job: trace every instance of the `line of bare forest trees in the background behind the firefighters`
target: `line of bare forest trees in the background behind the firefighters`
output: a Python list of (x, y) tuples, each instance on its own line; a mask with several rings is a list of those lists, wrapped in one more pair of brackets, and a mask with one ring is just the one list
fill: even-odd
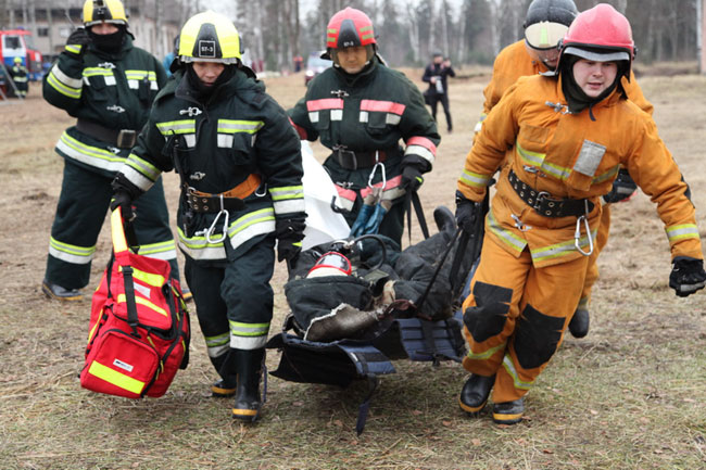
[[(326, 43), (326, 25), (337, 11), (366, 12), (383, 58), (392, 66), (420, 66), (433, 51), (456, 64), (491, 64), (505, 46), (522, 38), (531, 0), (124, 0), (152, 18), (184, 22), (207, 8), (218, 8), (238, 27), (250, 56), (267, 69), (288, 69)], [(583, 11), (598, 0), (575, 0)], [(604, 0), (632, 25), (639, 61), (693, 61), (698, 54), (698, 2), (702, 0)], [(0, 26), (28, 27), (36, 10), (56, 8), (47, 0), (0, 0)], [(75, 5), (73, 5), (75, 3)], [(68, 0), (63, 8), (80, 8)], [(304, 8), (306, 7), (306, 8)], [(29, 27), (28, 27), (29, 28)], [(169, 38), (171, 39), (171, 38)]]

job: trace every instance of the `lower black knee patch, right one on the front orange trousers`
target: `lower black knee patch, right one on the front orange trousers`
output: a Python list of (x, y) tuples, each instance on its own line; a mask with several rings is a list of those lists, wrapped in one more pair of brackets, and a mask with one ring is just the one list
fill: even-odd
[(515, 328), (515, 353), (525, 369), (550, 360), (562, 339), (564, 318), (550, 317), (527, 304)]

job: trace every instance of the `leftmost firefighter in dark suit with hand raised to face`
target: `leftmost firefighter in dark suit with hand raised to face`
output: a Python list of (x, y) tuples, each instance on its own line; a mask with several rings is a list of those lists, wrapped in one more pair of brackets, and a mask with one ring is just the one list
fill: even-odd
[[(77, 118), (56, 143), (64, 178), (51, 228), (42, 291), (75, 301), (89, 282), (96, 242), (111, 202), (111, 181), (147, 122), (166, 81), (160, 62), (133, 46), (118, 0), (84, 3), (85, 28), (76, 29), (42, 82), (45, 99)], [(178, 278), (176, 246), (162, 181), (137, 205), (140, 254), (166, 259)]]

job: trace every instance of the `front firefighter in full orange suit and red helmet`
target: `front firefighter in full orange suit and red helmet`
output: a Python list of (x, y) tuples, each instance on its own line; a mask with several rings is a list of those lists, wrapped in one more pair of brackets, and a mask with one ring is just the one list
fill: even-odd
[[(609, 4), (580, 13), (564, 37), (557, 76), (518, 80), (483, 122), (458, 179), (456, 217), (471, 230), (499, 178), (480, 264), (463, 303), (471, 372), (459, 405), (519, 422), (524, 396), (558, 348), (579, 302), (601, 220), (600, 198), (621, 165), (657, 204), (670, 244), (669, 285), (686, 296), (706, 272), (695, 209), (652, 117), (627, 100), (634, 55), (628, 20)], [(497, 269), (502, 266), (503, 269)]]

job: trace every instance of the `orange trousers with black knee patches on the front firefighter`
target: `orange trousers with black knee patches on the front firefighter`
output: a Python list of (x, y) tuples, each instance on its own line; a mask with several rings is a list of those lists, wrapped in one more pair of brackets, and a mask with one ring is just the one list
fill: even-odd
[[(499, 268), (502, 267), (502, 268)], [(480, 264), (464, 301), (466, 370), (495, 374), (492, 401), (524, 396), (562, 344), (581, 297), (589, 257), (537, 268), (486, 237)]]

